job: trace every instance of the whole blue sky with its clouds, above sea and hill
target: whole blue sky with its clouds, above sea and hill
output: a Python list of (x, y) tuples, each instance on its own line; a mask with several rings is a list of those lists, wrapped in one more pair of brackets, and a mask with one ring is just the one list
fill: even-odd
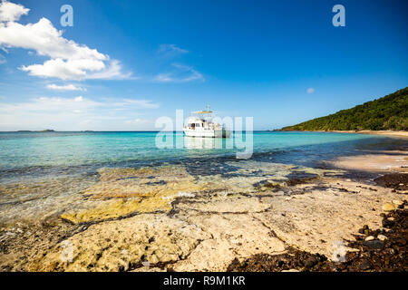
[(276, 129), (408, 85), (406, 1), (1, 5), (0, 131), (159, 130), (160, 116), (207, 103)]

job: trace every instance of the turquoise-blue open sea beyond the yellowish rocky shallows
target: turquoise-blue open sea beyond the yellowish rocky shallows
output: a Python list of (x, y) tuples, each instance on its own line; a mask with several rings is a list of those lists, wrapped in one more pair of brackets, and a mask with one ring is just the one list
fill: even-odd
[[(223, 140), (223, 148), (216, 149), (214, 139), (187, 137), (181, 137), (182, 149), (158, 149), (156, 136), (157, 132), (1, 132), (0, 182), (86, 174), (101, 167), (189, 163), (197, 159), (222, 162), (244, 151), (237, 149), (235, 142), (233, 149), (226, 149)], [(372, 135), (256, 131), (251, 159), (316, 166), (320, 160), (398, 144), (403, 140)]]

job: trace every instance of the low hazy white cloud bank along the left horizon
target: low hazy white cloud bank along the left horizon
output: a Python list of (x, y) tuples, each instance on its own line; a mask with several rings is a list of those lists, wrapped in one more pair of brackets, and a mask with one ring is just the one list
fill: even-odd
[[(149, 100), (42, 97), (0, 103), (0, 131), (154, 130), (154, 122), (135, 119), (138, 111), (158, 108)], [(117, 110), (120, 109), (120, 110)]]

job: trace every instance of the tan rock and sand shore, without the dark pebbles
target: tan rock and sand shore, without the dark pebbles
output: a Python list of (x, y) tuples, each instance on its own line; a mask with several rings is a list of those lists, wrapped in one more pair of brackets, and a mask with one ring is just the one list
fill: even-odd
[[(335, 263), (339, 251), (355, 252), (347, 243), (367, 237), (359, 233), (363, 226), (384, 229), (382, 213), (406, 211), (408, 183), (400, 181), (406, 177), (406, 156), (396, 151), (375, 159), (342, 158), (333, 161), (338, 169), (302, 168), (296, 179), (248, 178), (228, 189), (211, 176), (197, 181), (182, 167), (103, 169), (100, 181), (83, 192), (100, 201), (97, 207), (3, 230), (0, 266), (16, 271), (227, 271), (254, 256), (285, 256), (294, 250)], [(262, 162), (252, 166), (270, 169)], [(353, 178), (347, 169), (376, 172), (379, 178), (400, 175), (394, 186), (384, 185)], [(256, 181), (259, 186), (252, 190)]]

